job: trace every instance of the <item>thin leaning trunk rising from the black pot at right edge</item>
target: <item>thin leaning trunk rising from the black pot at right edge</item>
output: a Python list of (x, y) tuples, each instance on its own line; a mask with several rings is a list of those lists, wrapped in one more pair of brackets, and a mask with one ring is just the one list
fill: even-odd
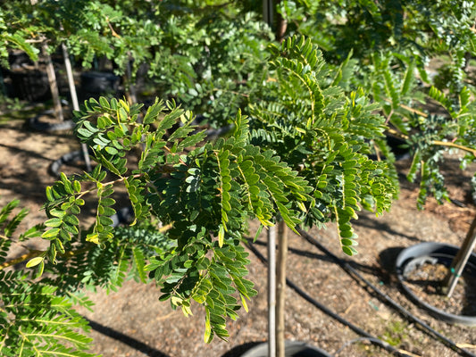
[(458, 283), (458, 278), (461, 277), (463, 273), (464, 266), (470, 256), (474, 247), (476, 246), (476, 216), (472, 220), (472, 224), (466, 238), (464, 238), (463, 245), (461, 245), (460, 250), (456, 254), (453, 262), (451, 262), (450, 270), (447, 273), (447, 277), (443, 281), (442, 290), (443, 293), (450, 297), (455, 291), (455, 286)]

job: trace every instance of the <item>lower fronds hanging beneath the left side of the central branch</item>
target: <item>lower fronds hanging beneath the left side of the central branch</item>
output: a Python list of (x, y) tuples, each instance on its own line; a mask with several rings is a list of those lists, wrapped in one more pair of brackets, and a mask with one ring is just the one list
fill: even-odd
[(117, 291), (126, 278), (148, 282), (145, 257), (163, 253), (172, 249), (172, 245), (174, 242), (167, 240), (150, 222), (142, 222), (137, 227), (116, 227), (113, 239), (104, 247), (84, 237), (76, 241), (71, 253), (58, 256), (57, 264), (46, 267), (54, 278), (44, 280), (75, 300), (77, 292), (84, 287)]

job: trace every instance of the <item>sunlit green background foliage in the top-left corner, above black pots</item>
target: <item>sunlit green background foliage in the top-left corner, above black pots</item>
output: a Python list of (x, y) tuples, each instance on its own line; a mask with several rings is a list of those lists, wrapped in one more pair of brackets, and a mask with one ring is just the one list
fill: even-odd
[[(162, 31), (154, 22), (151, 13), (154, 9), (148, 2), (129, 6), (124, 2), (112, 3), (99, 0), (11, 2), (0, 9), (0, 29), (6, 30), (0, 40), (6, 41), (9, 47), (24, 50), (32, 60), (38, 59), (43, 43), (47, 43), (50, 52), (64, 43), (72, 55), (78, 56), (84, 68), (90, 68), (97, 57), (104, 56), (114, 62), (117, 74), (124, 74), (129, 60), (135, 59), (132, 62), (132, 75), (135, 75), (138, 66), (151, 58)], [(0, 58), (6, 56), (2, 47)]]

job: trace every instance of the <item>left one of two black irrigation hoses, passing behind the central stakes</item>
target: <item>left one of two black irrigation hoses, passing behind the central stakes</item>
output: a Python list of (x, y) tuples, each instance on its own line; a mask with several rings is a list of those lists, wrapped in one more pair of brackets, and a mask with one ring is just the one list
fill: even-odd
[[(263, 254), (260, 253), (256, 248), (255, 246), (252, 244), (251, 241), (248, 240), (248, 247), (250, 248), (250, 250), (255, 253), (255, 255), (258, 257), (258, 259), (263, 262), (264, 264), (267, 264), (267, 260), (266, 258), (264, 258)], [(355, 326), (352, 322), (350, 321), (347, 321), (346, 319), (344, 319), (343, 317), (339, 316), (337, 313), (335, 313), (334, 311), (331, 311), (327, 306), (324, 306), (322, 303), (319, 303), (317, 300), (313, 299), (312, 296), (308, 295), (307, 293), (305, 293), (304, 290), (302, 290), (301, 288), (299, 288), (298, 286), (296, 286), (296, 284), (294, 284), (290, 279), (286, 278), (286, 284), (291, 287), (294, 291), (296, 291), (296, 293), (298, 295), (300, 295), (302, 298), (304, 298), (308, 303), (312, 303), (314, 305), (314, 307), (318, 308), (319, 310), (321, 310), (322, 312), (324, 312), (325, 314), (329, 315), (332, 319), (334, 320), (338, 320), (338, 322), (340, 322), (341, 324), (347, 326), (347, 328), (350, 328), (352, 329), (356, 334), (360, 335), (360, 336), (364, 336), (368, 341), (372, 342), (372, 344), (374, 345), (378, 345), (380, 347), (382, 347), (383, 349), (387, 350), (389, 353), (394, 353), (395, 355), (397, 356), (405, 356), (405, 357), (408, 357), (411, 355), (410, 354), (407, 354), (403, 351), (400, 351), (398, 350), (397, 348), (395, 348), (394, 346), (392, 345), (389, 345), (388, 343), (386, 343), (385, 341), (382, 341), (380, 340), (379, 338), (375, 337), (375, 336), (372, 336), (370, 335), (369, 333), (365, 332), (362, 328), (358, 328), (357, 326)]]

